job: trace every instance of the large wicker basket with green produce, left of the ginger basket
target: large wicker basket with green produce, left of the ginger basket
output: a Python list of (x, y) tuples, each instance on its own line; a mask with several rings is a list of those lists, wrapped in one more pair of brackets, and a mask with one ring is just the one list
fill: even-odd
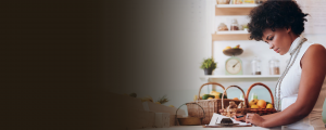
[[(220, 114), (220, 109), (222, 108), (222, 99), (212, 99), (212, 100), (200, 100), (200, 91), (201, 89), (206, 84), (216, 84), (220, 86), (223, 90), (224, 87), (217, 82), (208, 82), (200, 87), (199, 93), (198, 93), (198, 100), (196, 102), (190, 103), (198, 103), (200, 106), (203, 107), (205, 112), (205, 117), (202, 120), (202, 125), (209, 125), (211, 121), (211, 118), (214, 113)], [(224, 91), (224, 94), (226, 94), (226, 91)], [(224, 106), (228, 106), (228, 103), (234, 100), (224, 99)], [(236, 104), (239, 104), (242, 101), (235, 101)], [(201, 108), (198, 105), (195, 104), (187, 104), (188, 115), (191, 117), (203, 117), (203, 113)]]

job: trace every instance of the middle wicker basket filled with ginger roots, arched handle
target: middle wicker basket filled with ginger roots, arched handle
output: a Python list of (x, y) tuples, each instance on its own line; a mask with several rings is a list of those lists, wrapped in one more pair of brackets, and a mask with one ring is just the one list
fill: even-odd
[[(228, 88), (231, 88), (231, 87), (238, 88), (239, 90), (241, 90), (242, 94), (244, 95), (244, 91), (240, 87), (238, 87), (238, 86), (229, 86), (224, 91), (226, 92), (226, 90)], [(247, 108), (247, 106), (248, 106), (247, 102), (244, 102), (243, 107), (241, 107), (241, 108), (238, 108), (238, 106), (236, 108), (226, 108), (227, 106), (224, 107), (224, 104), (225, 104), (224, 102), (225, 101), (224, 101), (224, 93), (223, 93), (223, 95), (222, 95), (222, 108), (220, 110), (221, 115), (223, 115), (223, 116), (233, 117), (236, 114), (246, 115), (248, 112), (250, 112), (250, 108)], [(242, 102), (242, 101), (240, 101), (240, 102)], [(236, 105), (239, 105), (239, 103), (236, 103)]]

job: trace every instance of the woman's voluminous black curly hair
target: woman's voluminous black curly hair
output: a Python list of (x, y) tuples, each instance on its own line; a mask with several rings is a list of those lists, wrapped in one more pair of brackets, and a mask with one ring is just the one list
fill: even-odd
[(263, 31), (271, 28), (289, 28), (294, 35), (301, 35), (304, 30), (304, 18), (306, 15), (302, 13), (299, 5), (293, 1), (265, 1), (261, 5), (251, 10), (249, 17), (250, 23), (248, 29), (250, 40), (262, 40)]

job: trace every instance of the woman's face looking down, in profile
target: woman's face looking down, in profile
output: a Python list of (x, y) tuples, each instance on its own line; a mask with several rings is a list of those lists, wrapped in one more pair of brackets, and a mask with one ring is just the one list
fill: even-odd
[(284, 55), (289, 51), (294, 40), (293, 37), (291, 37), (290, 30), (290, 28), (276, 28), (275, 31), (273, 31), (271, 28), (267, 28), (263, 32), (263, 41), (269, 44), (269, 49)]

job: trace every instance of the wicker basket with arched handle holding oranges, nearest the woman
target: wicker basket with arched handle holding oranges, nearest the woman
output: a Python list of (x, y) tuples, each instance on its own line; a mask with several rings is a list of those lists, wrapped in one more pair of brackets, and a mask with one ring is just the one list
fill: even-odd
[[(253, 83), (253, 84), (251, 84), (251, 86), (249, 87), (249, 89), (247, 90), (246, 98), (244, 98), (246, 104), (249, 104), (248, 98), (249, 98), (250, 90), (251, 90), (253, 87), (255, 87), (255, 86), (263, 86), (263, 87), (265, 87), (265, 88), (268, 90), (268, 92), (269, 92), (269, 94), (271, 94), (271, 98), (272, 98), (272, 105), (273, 105), (273, 108), (250, 108), (249, 113), (255, 113), (255, 114), (259, 114), (259, 115), (261, 115), (261, 116), (262, 116), (262, 115), (268, 115), (268, 114), (276, 113), (276, 109), (274, 108), (275, 105), (274, 105), (274, 96), (273, 96), (273, 93), (272, 93), (271, 89), (269, 89), (266, 84), (261, 83), (261, 82)], [(249, 105), (247, 105), (247, 106), (249, 106)]]

